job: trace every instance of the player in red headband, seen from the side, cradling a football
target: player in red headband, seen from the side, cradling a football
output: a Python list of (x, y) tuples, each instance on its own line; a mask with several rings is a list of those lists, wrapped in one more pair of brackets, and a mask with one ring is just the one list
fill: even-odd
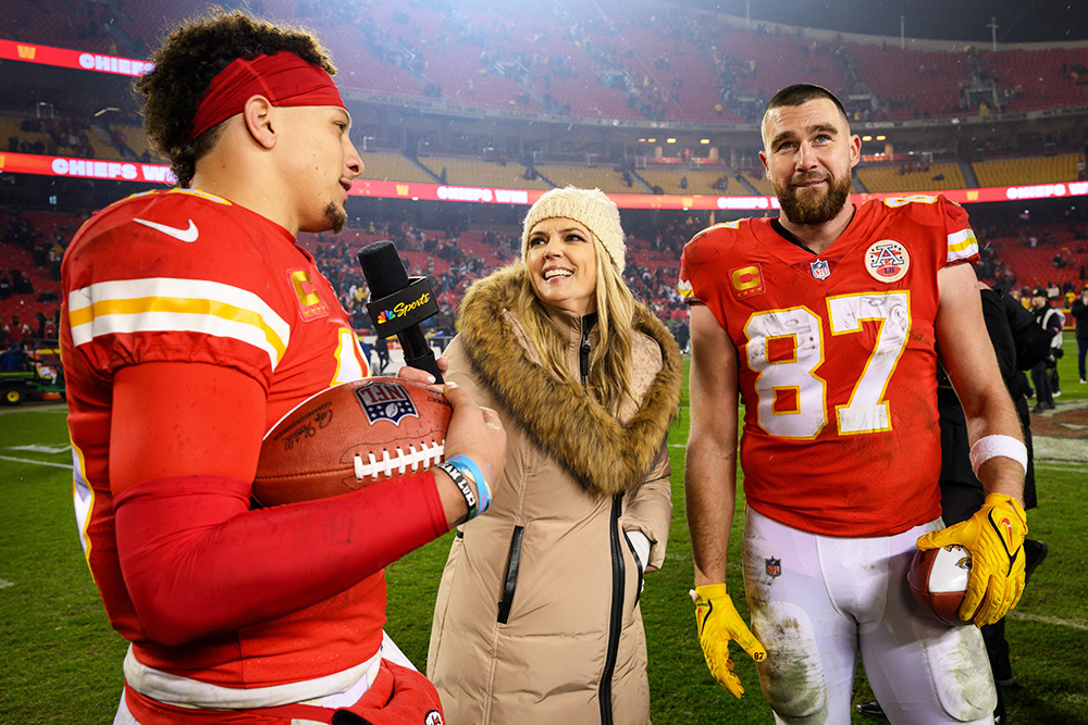
[(505, 433), (447, 386), (447, 462), (462, 454), (469, 475), (250, 504), (263, 434), (368, 374), (296, 245), (344, 226), (363, 166), (309, 34), (218, 11), (153, 60), (137, 88), (178, 187), (102, 210), (63, 262), (76, 514), (131, 642), (114, 722), (441, 722), (434, 688), (383, 634), (383, 567), (483, 507)]

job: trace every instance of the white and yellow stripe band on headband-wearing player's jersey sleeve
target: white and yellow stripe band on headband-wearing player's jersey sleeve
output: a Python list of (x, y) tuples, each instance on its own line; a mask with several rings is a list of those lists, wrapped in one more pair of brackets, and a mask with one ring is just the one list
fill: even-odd
[(151, 277), (100, 282), (69, 293), (72, 342), (115, 334), (188, 332), (263, 350), (275, 370), (290, 326), (254, 292), (206, 279)]

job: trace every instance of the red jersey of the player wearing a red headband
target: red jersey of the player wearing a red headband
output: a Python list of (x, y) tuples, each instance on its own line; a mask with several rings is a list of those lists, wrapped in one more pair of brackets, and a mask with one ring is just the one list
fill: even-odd
[(172, 648), (143, 630), (114, 536), (109, 452), (119, 368), (233, 367), (267, 391), (265, 430), (316, 392), (368, 374), (348, 316), (313, 259), (263, 216), (172, 189), (129, 197), (84, 224), (64, 257), (63, 280), (76, 514), (110, 622), (133, 642), (136, 660), (202, 683), (259, 687), (372, 658), (385, 623), (382, 572), (299, 612)]

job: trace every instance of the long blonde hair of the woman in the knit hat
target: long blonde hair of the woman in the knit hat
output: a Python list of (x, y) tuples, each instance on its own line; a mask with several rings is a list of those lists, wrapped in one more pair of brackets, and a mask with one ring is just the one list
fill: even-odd
[[(623, 283), (619, 271), (611, 264), (608, 252), (597, 236), (593, 235), (593, 249), (597, 255), (597, 279), (594, 292), (597, 303), (597, 354), (590, 364), (586, 387), (593, 397), (613, 415), (619, 413), (625, 398), (634, 399), (631, 389), (631, 338), (633, 335), (635, 301)], [(515, 300), (518, 318), (526, 334), (536, 348), (545, 368), (559, 379), (581, 385), (579, 375), (570, 370), (568, 339), (556, 328), (547, 305), (536, 297), (524, 262), (526, 274)]]

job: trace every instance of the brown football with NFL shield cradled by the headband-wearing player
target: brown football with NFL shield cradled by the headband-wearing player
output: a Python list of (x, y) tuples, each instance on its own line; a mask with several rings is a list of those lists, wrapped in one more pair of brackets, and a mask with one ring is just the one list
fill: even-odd
[(371, 377), (322, 390), (264, 436), (252, 497), (309, 501), (440, 463), (453, 412), (435, 387)]

